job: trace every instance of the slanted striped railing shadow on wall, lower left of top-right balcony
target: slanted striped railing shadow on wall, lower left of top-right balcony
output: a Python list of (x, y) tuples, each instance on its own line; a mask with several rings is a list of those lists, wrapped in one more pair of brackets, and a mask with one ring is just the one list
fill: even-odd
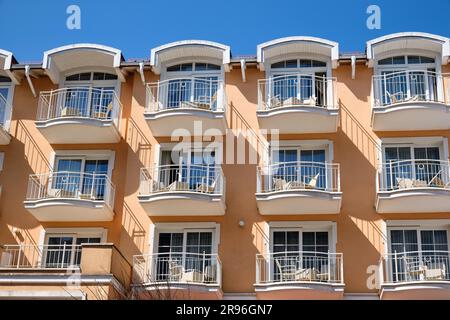
[(358, 148), (369, 163), (376, 168), (378, 165), (378, 152), (381, 151), (381, 146), (341, 101), (339, 101), (339, 106), (342, 132)]

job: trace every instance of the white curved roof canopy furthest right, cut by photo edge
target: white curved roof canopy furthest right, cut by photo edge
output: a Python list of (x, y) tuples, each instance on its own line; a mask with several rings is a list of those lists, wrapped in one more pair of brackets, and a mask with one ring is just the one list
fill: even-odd
[(450, 57), (450, 42), (449, 38), (430, 33), (400, 32), (367, 41), (366, 50), (370, 67), (381, 55), (407, 50), (435, 52), (442, 59), (442, 64), (447, 64)]

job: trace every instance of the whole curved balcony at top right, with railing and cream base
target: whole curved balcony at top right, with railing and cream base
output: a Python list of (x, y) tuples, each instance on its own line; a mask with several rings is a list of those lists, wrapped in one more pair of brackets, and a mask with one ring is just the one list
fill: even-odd
[(400, 71), (373, 77), (374, 131), (450, 129), (450, 74)]

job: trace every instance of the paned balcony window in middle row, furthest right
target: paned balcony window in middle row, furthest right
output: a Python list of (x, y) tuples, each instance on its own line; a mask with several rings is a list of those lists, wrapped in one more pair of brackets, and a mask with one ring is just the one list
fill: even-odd
[(388, 190), (438, 187), (446, 182), (439, 147), (385, 146), (384, 158)]

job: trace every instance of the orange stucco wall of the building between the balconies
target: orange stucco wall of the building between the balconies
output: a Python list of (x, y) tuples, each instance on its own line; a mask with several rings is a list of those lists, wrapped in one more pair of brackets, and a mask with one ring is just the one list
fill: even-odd
[[(444, 67), (450, 72), (450, 67)], [(145, 72), (146, 81), (158, 76)], [(232, 129), (252, 128), (257, 131), (257, 80), (264, 72), (248, 67), (247, 81), (242, 82), (241, 70), (226, 73), (228, 96), (227, 118)], [(149, 229), (157, 222), (217, 222), (220, 224), (219, 255), (223, 266), (223, 292), (254, 292), (255, 255), (263, 250), (264, 223), (267, 221), (334, 221), (337, 223), (337, 252), (344, 256), (346, 293), (375, 293), (366, 286), (367, 267), (376, 265), (383, 252), (381, 232), (383, 219), (440, 219), (450, 213), (422, 213), (383, 215), (376, 213), (375, 170), (377, 165), (377, 139), (381, 137), (445, 136), (449, 131), (378, 132), (371, 121), (372, 69), (358, 64), (356, 79), (351, 78), (351, 67), (341, 65), (333, 70), (337, 79), (340, 105), (340, 125), (336, 133), (285, 135), (281, 139), (328, 139), (333, 141), (334, 162), (341, 166), (343, 201), (337, 215), (262, 216), (256, 199), (256, 165), (224, 164), (227, 180), (227, 210), (221, 217), (148, 217), (137, 195), (139, 170), (153, 164), (154, 146), (168, 138), (155, 138), (144, 120), (145, 87), (137, 73), (129, 73), (122, 84), (121, 102), (123, 139), (117, 144), (104, 145), (50, 145), (36, 129), (34, 119), (37, 99), (31, 94), (26, 81), (15, 88), (11, 143), (0, 146), (5, 153), (0, 174), (2, 195), (0, 201), (0, 243), (37, 243), (42, 228), (51, 227), (103, 227), (108, 229), (108, 242), (112, 242), (128, 261), (135, 254), (147, 253)], [(55, 86), (46, 76), (33, 79), (36, 91)], [(39, 223), (24, 208), (28, 176), (49, 171), (53, 150), (108, 149), (115, 151), (112, 181), (116, 185), (115, 216), (112, 222), (98, 223)], [(245, 221), (239, 227), (239, 220)]]

